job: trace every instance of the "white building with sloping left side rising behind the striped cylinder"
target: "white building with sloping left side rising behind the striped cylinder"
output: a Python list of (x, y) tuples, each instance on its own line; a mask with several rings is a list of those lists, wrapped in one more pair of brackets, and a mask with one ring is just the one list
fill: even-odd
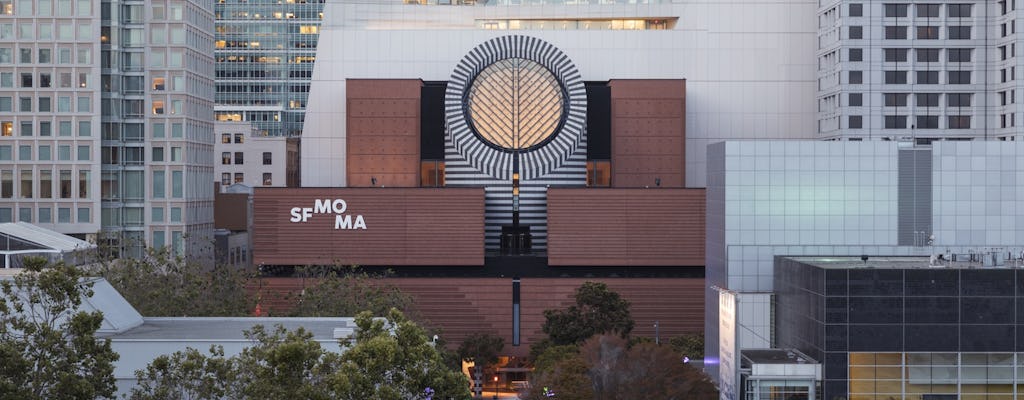
[(510, 34), (561, 50), (583, 81), (686, 79), (686, 186), (705, 185), (709, 143), (816, 132), (815, 1), (437, 3), (327, 1), (303, 185), (348, 184), (347, 79), (447, 81), (470, 50)]

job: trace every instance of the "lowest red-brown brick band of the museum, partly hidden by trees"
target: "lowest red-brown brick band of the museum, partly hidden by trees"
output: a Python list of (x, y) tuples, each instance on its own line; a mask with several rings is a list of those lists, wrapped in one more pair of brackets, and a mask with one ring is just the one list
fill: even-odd
[[(572, 293), (587, 280), (604, 282), (631, 303), (635, 337), (654, 337), (654, 322), (663, 340), (703, 331), (702, 278), (522, 278), (520, 286), (520, 345), (512, 346), (512, 279), (509, 278), (388, 278), (413, 297), (412, 310), (425, 324), (438, 328), (451, 348), (471, 334), (485, 332), (505, 339), (505, 354), (525, 356), (544, 335), (544, 310), (564, 309)], [(289, 293), (311, 280), (263, 278), (261, 307), (271, 315), (291, 308)], [(409, 311), (409, 310), (407, 310)]]

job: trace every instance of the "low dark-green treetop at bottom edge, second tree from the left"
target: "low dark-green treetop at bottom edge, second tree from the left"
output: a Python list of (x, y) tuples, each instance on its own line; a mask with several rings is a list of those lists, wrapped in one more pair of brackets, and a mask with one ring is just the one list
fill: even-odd
[(227, 394), (231, 364), (224, 349), (210, 347), (210, 355), (187, 348), (157, 357), (145, 369), (135, 371), (138, 386), (131, 400), (219, 400)]

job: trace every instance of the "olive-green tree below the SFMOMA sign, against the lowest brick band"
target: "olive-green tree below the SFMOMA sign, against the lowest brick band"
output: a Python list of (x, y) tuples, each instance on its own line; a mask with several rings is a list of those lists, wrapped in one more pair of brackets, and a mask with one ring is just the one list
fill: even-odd
[(371, 274), (355, 266), (340, 272), (335, 267), (306, 267), (299, 275), (314, 283), (297, 294), (292, 316), (351, 316), (368, 310), (384, 315), (392, 308), (407, 310), (413, 304), (411, 296), (384, 282), (388, 273)]

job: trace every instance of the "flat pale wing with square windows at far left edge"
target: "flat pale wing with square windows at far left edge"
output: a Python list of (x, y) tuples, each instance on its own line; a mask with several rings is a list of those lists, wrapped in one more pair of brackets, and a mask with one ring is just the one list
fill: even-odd
[(0, 222), (99, 230), (99, 1), (0, 1)]

